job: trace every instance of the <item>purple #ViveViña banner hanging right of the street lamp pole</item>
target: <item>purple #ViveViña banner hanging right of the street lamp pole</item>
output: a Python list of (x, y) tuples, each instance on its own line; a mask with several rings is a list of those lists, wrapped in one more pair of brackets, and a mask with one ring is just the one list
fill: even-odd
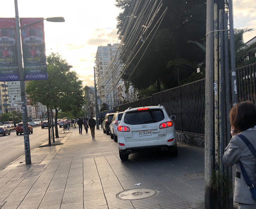
[(24, 79), (47, 80), (43, 18), (20, 18), (20, 27)]

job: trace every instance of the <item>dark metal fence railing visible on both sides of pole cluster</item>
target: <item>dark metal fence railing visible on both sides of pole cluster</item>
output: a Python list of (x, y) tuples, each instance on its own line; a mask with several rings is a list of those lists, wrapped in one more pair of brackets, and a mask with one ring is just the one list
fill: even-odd
[[(256, 63), (236, 69), (238, 102), (250, 100), (256, 105)], [(128, 107), (161, 104), (168, 115), (175, 115), (177, 131), (204, 134), (205, 79), (152, 94), (152, 96), (120, 105), (119, 111)], [(116, 108), (117, 109), (117, 108)], [(116, 111), (114, 109), (114, 111)]]

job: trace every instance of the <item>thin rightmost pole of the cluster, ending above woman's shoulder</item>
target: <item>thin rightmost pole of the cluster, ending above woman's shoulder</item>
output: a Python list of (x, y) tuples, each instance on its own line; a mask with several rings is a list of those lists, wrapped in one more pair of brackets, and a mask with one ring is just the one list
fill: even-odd
[(234, 52), (234, 25), (233, 25), (233, 3), (232, 2), (233, 2), (233, 0), (228, 0), (232, 105), (234, 106), (237, 103), (237, 90), (236, 90), (235, 52)]

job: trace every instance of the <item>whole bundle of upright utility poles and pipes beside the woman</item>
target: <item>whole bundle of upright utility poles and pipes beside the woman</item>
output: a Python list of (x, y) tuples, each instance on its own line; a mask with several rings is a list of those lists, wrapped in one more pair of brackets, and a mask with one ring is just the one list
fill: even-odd
[(222, 164), (230, 140), (229, 47), (224, 9), (224, 0), (206, 2), (205, 209), (233, 207), (231, 169)]

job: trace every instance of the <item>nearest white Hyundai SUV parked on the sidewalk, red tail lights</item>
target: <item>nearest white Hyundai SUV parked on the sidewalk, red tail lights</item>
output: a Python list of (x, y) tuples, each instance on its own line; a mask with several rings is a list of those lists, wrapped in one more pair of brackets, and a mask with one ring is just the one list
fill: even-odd
[(118, 148), (121, 160), (129, 154), (145, 149), (161, 150), (177, 155), (173, 120), (163, 106), (128, 108), (117, 126)]

